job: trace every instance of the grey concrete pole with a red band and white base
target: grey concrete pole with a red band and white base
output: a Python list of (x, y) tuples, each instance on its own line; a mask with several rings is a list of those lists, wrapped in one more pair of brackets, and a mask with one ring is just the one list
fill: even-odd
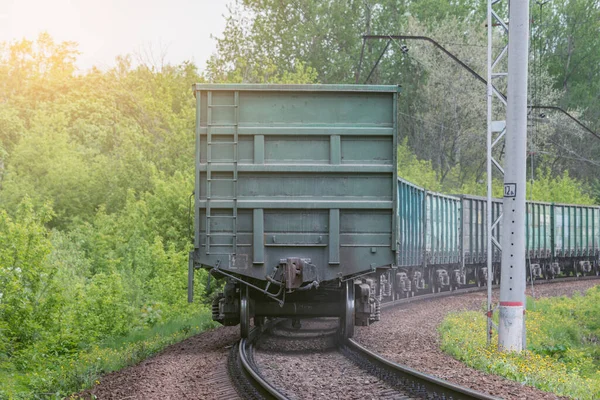
[(521, 351), (525, 305), (525, 192), (529, 0), (509, 3), (508, 104), (498, 349)]

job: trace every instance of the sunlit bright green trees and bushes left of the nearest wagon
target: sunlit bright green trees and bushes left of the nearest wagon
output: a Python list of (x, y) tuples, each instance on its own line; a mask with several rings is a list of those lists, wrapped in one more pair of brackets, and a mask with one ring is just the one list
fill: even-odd
[(76, 74), (76, 56), (48, 35), (0, 51), (0, 398), (45, 397), (81, 352), (202, 309), (185, 295), (201, 77), (129, 57)]

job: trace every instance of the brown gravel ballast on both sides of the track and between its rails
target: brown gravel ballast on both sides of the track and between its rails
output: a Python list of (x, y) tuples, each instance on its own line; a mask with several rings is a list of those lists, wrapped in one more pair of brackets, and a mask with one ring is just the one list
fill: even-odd
[[(596, 284), (597, 281), (578, 281), (539, 285), (536, 286), (536, 297), (571, 295)], [(552, 394), (473, 370), (439, 350), (437, 327), (445, 315), (451, 311), (480, 310), (485, 298), (486, 294), (481, 292), (384, 310), (381, 321), (370, 327), (356, 327), (355, 339), (392, 361), (495, 396), (506, 399), (556, 398)], [(285, 336), (285, 332), (277, 333)], [(82, 395), (90, 398), (93, 394), (98, 399), (235, 398), (232, 388), (217, 387), (220, 384), (231, 386), (226, 374), (226, 363), (231, 346), (238, 339), (239, 327), (220, 327), (204, 332), (170, 346), (138, 365), (102, 377), (100, 384)], [(313, 348), (318, 351), (312, 356), (310, 374), (320, 378), (312, 383), (311, 390), (301, 392), (297, 398), (359, 398), (352, 393), (361, 390), (361, 386), (367, 386), (366, 382), (350, 378), (352, 374), (348, 372), (358, 367), (331, 348), (330, 343), (324, 341), (324, 347)], [(288, 363), (288, 358), (293, 353), (282, 352), (277, 355), (279, 358), (261, 362), (265, 368), (264, 373), (271, 373), (274, 378), (289, 382), (301, 379), (299, 376), (302, 374), (294, 375), (290, 372), (289, 375), (283, 375), (280, 369), (279, 364)], [(306, 368), (308, 367), (300, 365), (297, 372)], [(368, 379), (369, 386), (379, 384), (375, 377)], [(384, 383), (381, 382), (381, 385), (380, 393), (384, 393)], [(373, 392), (356, 393), (362, 393), (360, 398), (377, 398)]]

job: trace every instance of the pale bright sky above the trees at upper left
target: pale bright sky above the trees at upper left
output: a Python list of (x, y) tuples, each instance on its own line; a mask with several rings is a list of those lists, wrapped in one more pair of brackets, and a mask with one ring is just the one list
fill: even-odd
[[(80, 71), (112, 67), (117, 55), (138, 54), (200, 70), (215, 52), (233, 0), (0, 0), (0, 42), (75, 41)], [(135, 57), (134, 57), (135, 59)]]

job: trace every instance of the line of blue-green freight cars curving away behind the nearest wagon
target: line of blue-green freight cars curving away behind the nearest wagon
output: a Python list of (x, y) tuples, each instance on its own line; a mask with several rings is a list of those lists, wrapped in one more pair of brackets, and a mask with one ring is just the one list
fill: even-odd
[[(502, 200), (493, 199), (492, 219), (501, 214)], [(394, 282), (396, 297), (486, 284), (486, 198), (447, 196), (398, 179), (398, 218), (398, 268), (380, 278), (384, 286)], [(501, 225), (493, 231), (498, 243)], [(600, 272), (599, 207), (528, 201), (526, 233), (529, 279)], [(501, 252), (493, 247), (497, 283)]]

